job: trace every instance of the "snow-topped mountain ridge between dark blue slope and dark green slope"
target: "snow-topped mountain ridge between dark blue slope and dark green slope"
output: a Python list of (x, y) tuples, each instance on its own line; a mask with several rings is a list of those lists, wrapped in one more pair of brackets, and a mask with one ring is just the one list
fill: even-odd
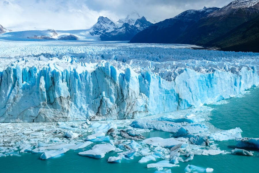
[(259, 15), (259, 0), (237, 0), (201, 18), (178, 39), (179, 43), (211, 46), (212, 40)]

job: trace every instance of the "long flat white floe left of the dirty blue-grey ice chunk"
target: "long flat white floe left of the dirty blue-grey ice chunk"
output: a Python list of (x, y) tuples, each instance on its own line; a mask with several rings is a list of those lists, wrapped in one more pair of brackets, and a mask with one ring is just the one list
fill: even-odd
[(160, 137), (153, 137), (153, 138), (147, 138), (147, 139), (143, 140), (143, 142), (148, 145), (172, 148), (173, 146), (178, 145), (178, 144), (186, 144), (186, 143), (188, 143), (188, 140), (185, 138), (163, 139)]

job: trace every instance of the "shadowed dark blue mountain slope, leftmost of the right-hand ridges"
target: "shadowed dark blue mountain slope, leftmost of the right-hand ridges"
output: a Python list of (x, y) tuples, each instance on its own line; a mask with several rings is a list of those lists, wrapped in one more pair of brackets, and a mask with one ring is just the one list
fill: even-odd
[(219, 8), (204, 7), (202, 10), (187, 10), (174, 18), (166, 19), (151, 25), (147, 29), (136, 34), (130, 42), (138, 43), (177, 43), (179, 35), (199, 21), (200, 18), (210, 14)]

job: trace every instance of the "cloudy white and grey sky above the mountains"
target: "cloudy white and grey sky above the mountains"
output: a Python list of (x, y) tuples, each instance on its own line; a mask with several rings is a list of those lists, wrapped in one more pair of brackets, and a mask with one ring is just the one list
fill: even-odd
[(233, 0), (0, 0), (0, 24), (7, 29), (89, 29), (99, 16), (113, 22), (137, 11), (156, 22), (189, 9), (223, 7)]

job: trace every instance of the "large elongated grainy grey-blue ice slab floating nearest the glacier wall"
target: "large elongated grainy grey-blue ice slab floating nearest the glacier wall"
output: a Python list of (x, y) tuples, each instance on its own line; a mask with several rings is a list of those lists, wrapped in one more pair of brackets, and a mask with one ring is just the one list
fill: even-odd
[(154, 129), (154, 130), (160, 130), (160, 131), (167, 131), (171, 133), (176, 133), (178, 129), (182, 127), (180, 123), (149, 120), (149, 119), (134, 120), (130, 126), (135, 128), (140, 128), (140, 129)]

